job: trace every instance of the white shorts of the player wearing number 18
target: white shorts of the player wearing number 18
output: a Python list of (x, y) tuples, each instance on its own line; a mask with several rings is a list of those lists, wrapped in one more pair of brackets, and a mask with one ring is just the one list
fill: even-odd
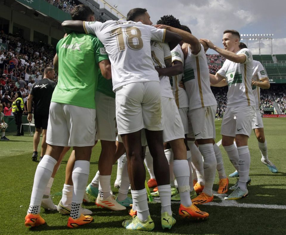
[(133, 133), (143, 128), (163, 130), (161, 116), (159, 81), (128, 83), (116, 89), (118, 134)]

